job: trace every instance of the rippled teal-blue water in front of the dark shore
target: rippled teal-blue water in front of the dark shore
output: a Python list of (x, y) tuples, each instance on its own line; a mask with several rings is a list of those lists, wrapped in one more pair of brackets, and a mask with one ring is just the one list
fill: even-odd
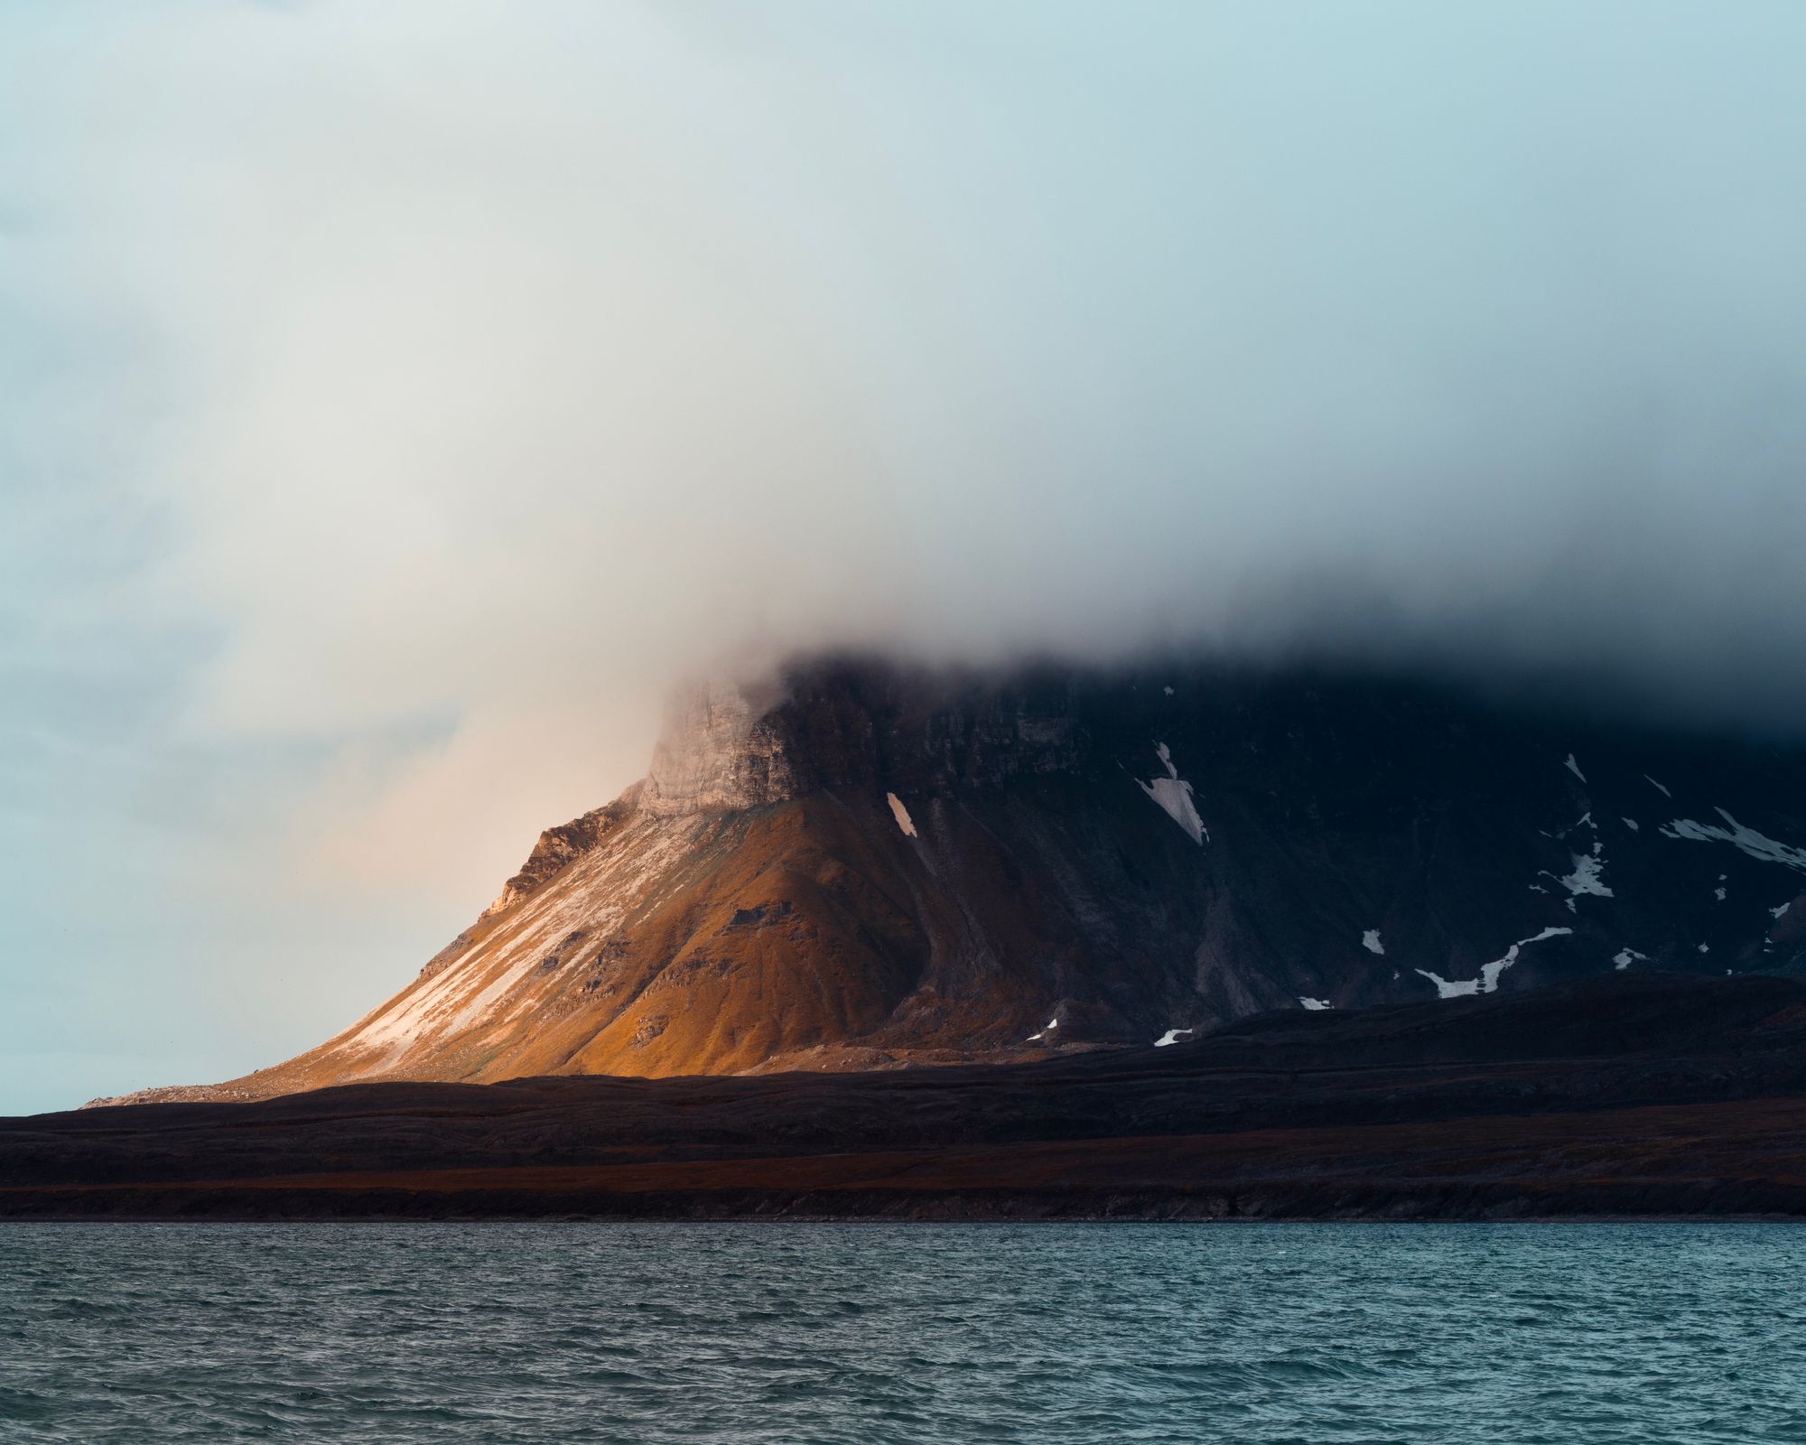
[(1786, 1225), (13, 1225), (7, 1441), (1806, 1441)]

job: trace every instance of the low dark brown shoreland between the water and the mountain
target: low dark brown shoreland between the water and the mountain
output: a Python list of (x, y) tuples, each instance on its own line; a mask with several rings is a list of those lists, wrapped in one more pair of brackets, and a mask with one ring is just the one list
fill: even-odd
[(7, 1219), (1806, 1216), (1806, 984), (1618, 975), (1060, 1058), (0, 1120)]

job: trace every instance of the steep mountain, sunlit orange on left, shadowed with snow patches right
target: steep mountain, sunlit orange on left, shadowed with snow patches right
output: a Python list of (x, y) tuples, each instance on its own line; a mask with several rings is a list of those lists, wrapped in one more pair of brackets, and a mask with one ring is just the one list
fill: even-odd
[(352, 1028), (128, 1098), (1011, 1060), (1806, 972), (1802, 874), (1801, 750), (1302, 668), (816, 657), (684, 692), (648, 777)]

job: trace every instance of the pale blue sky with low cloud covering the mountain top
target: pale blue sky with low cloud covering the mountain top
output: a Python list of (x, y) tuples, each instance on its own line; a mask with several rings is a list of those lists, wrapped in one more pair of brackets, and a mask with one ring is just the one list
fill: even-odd
[(1306, 650), (1806, 732), (1802, 43), (5, 11), (0, 1107), (323, 1037), (721, 659)]

